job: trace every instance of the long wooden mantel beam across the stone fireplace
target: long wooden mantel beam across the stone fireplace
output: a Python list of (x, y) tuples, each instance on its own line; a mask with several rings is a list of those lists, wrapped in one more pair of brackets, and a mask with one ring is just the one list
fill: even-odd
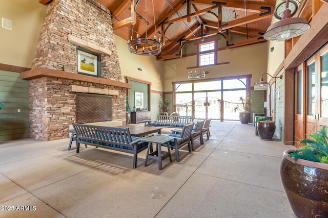
[(116, 86), (121, 88), (132, 88), (131, 84), (128, 83), (122, 83), (117, 82), (114, 80), (107, 80), (97, 77), (90, 77), (86, 75), (81, 74), (74, 74), (72, 72), (65, 72), (61, 70), (56, 69), (48, 69), (44, 67), (37, 67), (35, 69), (31, 69), (25, 72), (22, 72), (20, 74), (20, 79), (22, 80), (32, 80), (40, 77), (56, 77), (56, 78), (63, 78), (63, 79), (69, 79), (69, 80), (77, 80), (77, 81), (83, 81), (83, 82), (90, 82), (90, 83), (98, 83), (103, 85), (109, 85), (109, 86)]

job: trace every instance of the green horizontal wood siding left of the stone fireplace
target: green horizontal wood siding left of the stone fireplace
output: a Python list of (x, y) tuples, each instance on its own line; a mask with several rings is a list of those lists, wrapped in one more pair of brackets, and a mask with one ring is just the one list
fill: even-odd
[[(18, 72), (0, 70), (0, 141), (29, 137), (29, 83)], [(17, 110), (20, 109), (20, 113)]]

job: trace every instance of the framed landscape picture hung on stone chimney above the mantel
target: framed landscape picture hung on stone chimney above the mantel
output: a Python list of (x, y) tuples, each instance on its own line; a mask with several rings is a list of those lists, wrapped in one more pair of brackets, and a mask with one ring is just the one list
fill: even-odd
[(93, 77), (100, 77), (100, 55), (81, 47), (77, 48), (77, 72)]

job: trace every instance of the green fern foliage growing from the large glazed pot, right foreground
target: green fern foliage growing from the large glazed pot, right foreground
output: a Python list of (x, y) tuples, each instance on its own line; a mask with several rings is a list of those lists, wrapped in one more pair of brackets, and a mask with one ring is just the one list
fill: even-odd
[(328, 137), (326, 127), (324, 126), (318, 133), (313, 133), (309, 136), (313, 139), (301, 140), (299, 143), (305, 143), (305, 145), (288, 156), (293, 157), (294, 163), (298, 159), (328, 163)]

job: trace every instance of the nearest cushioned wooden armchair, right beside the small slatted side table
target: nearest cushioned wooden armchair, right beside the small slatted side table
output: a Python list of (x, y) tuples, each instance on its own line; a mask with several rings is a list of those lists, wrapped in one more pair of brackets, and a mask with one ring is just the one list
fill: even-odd
[(170, 136), (174, 136), (173, 140), (169, 141), (171, 149), (175, 149), (175, 156), (176, 161), (180, 161), (179, 157), (179, 149), (183, 146), (186, 146), (188, 144), (188, 151), (191, 152), (191, 141), (190, 141), (190, 134), (193, 130), (194, 123), (188, 124), (183, 126), (181, 130), (181, 134), (170, 134)]

